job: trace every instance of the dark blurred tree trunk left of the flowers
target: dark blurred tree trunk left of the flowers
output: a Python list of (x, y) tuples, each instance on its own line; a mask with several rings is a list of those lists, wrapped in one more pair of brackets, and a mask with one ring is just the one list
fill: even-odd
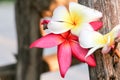
[[(16, 0), (16, 28), (18, 33), (18, 63), (16, 80), (40, 80), (46, 69), (42, 61), (42, 49), (29, 49), (30, 44), (41, 37), (39, 22), (47, 0)], [(44, 5), (44, 6), (43, 6)]]

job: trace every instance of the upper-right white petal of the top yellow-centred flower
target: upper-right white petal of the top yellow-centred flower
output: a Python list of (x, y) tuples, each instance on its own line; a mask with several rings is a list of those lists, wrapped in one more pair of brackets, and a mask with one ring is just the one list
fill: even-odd
[(101, 12), (74, 2), (69, 4), (69, 11), (72, 16), (82, 15), (85, 22), (95, 21), (102, 17)]

